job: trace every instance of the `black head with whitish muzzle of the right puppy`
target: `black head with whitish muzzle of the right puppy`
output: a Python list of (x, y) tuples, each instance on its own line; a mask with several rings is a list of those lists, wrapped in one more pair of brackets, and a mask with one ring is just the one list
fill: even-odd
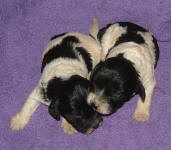
[(137, 71), (129, 60), (121, 56), (100, 62), (90, 80), (93, 89), (88, 103), (101, 114), (115, 112), (135, 94), (145, 99), (145, 89)]

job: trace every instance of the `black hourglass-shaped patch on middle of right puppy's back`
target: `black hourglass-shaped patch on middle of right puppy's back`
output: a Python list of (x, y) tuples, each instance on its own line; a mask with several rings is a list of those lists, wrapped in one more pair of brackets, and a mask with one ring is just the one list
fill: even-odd
[(122, 27), (127, 27), (127, 32), (119, 37), (119, 39), (116, 41), (114, 46), (117, 46), (120, 43), (131, 42), (131, 41), (138, 44), (145, 43), (144, 38), (140, 34), (137, 34), (137, 32), (138, 31), (147, 32), (146, 29), (130, 22), (119, 22), (119, 25)]

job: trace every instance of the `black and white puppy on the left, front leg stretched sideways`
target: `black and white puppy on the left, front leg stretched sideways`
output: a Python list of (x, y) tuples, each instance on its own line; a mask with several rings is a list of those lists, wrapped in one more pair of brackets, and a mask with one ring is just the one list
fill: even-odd
[(100, 61), (101, 52), (96, 40), (82, 33), (53, 37), (43, 53), (40, 81), (12, 117), (11, 129), (23, 129), (40, 103), (49, 106), (56, 120), (63, 117), (61, 127), (67, 134), (88, 134), (101, 125), (101, 116), (87, 104), (89, 74)]

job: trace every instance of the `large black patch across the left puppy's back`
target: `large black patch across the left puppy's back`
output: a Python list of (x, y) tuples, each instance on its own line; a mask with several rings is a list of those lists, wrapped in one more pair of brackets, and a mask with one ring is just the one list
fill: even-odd
[(53, 48), (51, 48), (45, 55), (42, 61), (41, 72), (43, 72), (44, 67), (59, 57), (78, 59), (74, 53), (73, 44), (79, 43), (79, 40), (75, 36), (67, 36), (62, 42)]

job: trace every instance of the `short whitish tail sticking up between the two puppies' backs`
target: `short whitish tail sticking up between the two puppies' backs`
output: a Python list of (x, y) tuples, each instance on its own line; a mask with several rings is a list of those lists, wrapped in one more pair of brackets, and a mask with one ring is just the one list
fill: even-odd
[(97, 40), (97, 34), (99, 31), (99, 22), (96, 18), (93, 19), (92, 25), (89, 29), (89, 34), (92, 36), (95, 40)]

